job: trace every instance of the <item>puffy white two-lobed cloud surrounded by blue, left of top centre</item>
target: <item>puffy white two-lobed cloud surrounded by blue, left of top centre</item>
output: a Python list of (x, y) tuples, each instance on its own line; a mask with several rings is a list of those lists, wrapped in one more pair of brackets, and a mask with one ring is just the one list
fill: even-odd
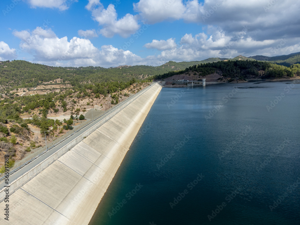
[(89, 0), (86, 8), (91, 11), (93, 19), (103, 26), (100, 33), (107, 38), (112, 38), (116, 34), (127, 38), (140, 28), (137, 16), (133, 16), (130, 13), (118, 19), (115, 5), (113, 4), (109, 4), (107, 9), (105, 9), (100, 1)]

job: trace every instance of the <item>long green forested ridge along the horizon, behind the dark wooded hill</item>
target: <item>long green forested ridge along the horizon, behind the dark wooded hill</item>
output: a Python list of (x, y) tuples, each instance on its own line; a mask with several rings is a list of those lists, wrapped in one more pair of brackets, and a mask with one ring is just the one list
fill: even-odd
[(129, 82), (130, 80), (143, 80), (149, 76), (169, 73), (172, 71), (185, 70), (197, 64), (216, 63), (219, 61), (267, 61), (270, 63), (290, 67), (300, 64), (300, 52), (289, 55), (263, 56), (255, 55), (245, 57), (238, 55), (235, 58), (207, 58), (201, 61), (169, 61), (160, 66), (130, 66), (104, 68), (100, 66), (87, 67), (53, 67), (31, 63), (23, 60), (0, 61), (0, 90), (12, 87), (35, 87), (38, 84), (61, 78), (63, 82), (73, 85), (78, 83), (98, 82)]

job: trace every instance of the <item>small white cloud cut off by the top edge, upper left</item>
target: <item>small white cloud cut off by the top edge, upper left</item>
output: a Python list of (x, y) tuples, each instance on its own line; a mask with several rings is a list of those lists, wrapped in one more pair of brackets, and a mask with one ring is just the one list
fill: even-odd
[(42, 8), (58, 8), (59, 10), (67, 10), (69, 5), (78, 0), (28, 0), (31, 7), (42, 7)]

